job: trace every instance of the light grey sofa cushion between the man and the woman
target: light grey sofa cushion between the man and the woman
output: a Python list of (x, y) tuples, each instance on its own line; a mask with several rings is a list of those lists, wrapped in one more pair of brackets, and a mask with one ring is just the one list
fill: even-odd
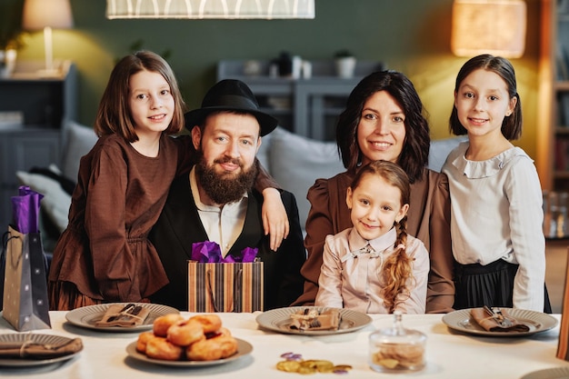
[(296, 197), (300, 224), (304, 229), (310, 210), (306, 200), (308, 189), (317, 178), (329, 178), (345, 171), (336, 144), (276, 128), (271, 133), (270, 145), (268, 169), (276, 182)]

